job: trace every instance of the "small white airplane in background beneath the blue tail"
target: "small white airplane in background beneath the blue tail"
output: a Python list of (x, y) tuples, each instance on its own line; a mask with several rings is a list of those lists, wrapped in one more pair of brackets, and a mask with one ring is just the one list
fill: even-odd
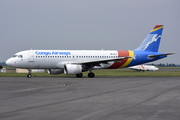
[(129, 68), (132, 70), (143, 71), (143, 72), (159, 70), (159, 68), (157, 68), (156, 66), (153, 66), (153, 65), (136, 65), (136, 66), (132, 66)]

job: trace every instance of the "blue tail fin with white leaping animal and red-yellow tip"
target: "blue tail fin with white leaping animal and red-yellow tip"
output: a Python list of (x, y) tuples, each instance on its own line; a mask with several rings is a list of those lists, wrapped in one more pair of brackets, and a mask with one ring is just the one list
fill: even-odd
[(156, 25), (141, 45), (135, 50), (158, 52), (163, 27), (163, 25)]

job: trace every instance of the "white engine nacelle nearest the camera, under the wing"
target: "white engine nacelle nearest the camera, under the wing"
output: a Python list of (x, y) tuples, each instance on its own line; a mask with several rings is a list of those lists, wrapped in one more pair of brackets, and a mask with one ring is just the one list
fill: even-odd
[(68, 75), (75, 75), (82, 73), (82, 66), (75, 64), (66, 64), (64, 65), (64, 73)]

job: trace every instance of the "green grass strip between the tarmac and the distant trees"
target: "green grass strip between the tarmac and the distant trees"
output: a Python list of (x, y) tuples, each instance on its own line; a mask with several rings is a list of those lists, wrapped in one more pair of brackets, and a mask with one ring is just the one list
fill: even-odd
[[(138, 72), (130, 69), (115, 69), (115, 70), (93, 70), (96, 76), (180, 76), (180, 69), (177, 70), (160, 70), (153, 71), (145, 71)], [(89, 72), (83, 72), (83, 76), (87, 76)], [(26, 77), (27, 73), (0, 73), (0, 77)], [(49, 75), (48, 73), (32, 73), (34, 77), (52, 77), (52, 76), (68, 76), (74, 77), (75, 75)]]

